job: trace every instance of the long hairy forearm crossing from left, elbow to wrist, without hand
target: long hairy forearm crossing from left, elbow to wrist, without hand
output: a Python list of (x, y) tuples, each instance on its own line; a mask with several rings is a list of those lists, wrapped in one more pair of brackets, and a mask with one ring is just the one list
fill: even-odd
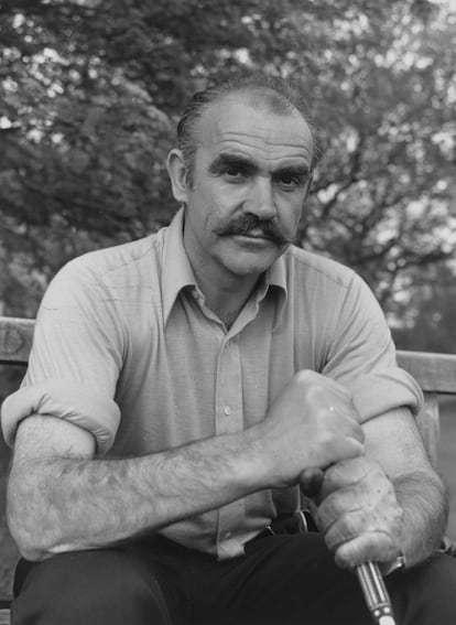
[(253, 448), (239, 434), (137, 459), (14, 463), (10, 528), (30, 559), (154, 531), (259, 489)]

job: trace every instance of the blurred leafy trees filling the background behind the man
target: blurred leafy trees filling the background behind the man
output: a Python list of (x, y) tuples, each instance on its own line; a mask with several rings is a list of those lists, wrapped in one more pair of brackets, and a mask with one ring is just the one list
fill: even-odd
[[(456, 353), (450, 0), (2, 0), (0, 314), (33, 317), (68, 259), (170, 222), (183, 105), (242, 67), (302, 82), (323, 132), (301, 245), (367, 280), (398, 347)], [(0, 400), (22, 375), (0, 369)], [(456, 498), (455, 398), (442, 430)], [(8, 462), (0, 441), (1, 510)], [(0, 594), (15, 559), (2, 519)]]

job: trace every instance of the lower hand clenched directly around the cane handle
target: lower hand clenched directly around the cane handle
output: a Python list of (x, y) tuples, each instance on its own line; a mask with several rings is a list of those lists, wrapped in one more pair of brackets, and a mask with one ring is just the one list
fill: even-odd
[(383, 470), (365, 456), (330, 466), (316, 514), (318, 529), (337, 564), (390, 562), (401, 553), (402, 509)]

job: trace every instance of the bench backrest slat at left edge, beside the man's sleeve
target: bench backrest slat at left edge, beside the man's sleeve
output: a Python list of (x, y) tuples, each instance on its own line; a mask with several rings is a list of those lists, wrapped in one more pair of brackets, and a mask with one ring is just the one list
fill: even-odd
[(25, 364), (32, 347), (33, 319), (0, 316), (0, 364)]

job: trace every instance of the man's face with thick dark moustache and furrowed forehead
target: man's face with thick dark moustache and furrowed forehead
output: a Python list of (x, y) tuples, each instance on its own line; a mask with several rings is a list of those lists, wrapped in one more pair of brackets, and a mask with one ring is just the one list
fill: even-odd
[(184, 245), (195, 273), (257, 277), (296, 236), (310, 185), (313, 140), (297, 111), (230, 96), (204, 114)]

